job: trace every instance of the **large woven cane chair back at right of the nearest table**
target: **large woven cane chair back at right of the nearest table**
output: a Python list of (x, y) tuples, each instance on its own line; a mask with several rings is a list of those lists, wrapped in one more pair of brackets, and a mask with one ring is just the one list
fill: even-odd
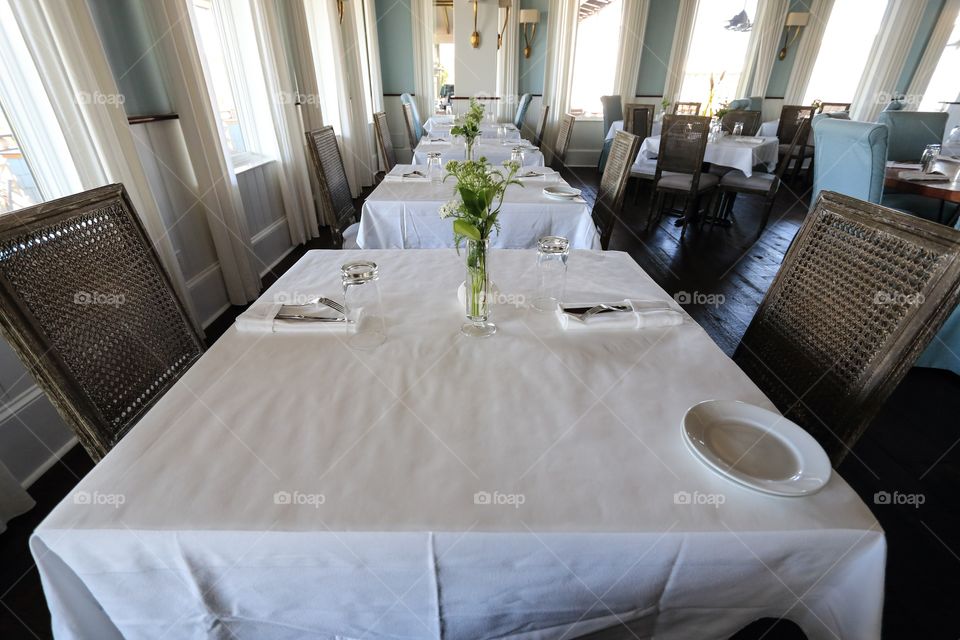
[(734, 360), (836, 466), (958, 299), (960, 232), (825, 191)]

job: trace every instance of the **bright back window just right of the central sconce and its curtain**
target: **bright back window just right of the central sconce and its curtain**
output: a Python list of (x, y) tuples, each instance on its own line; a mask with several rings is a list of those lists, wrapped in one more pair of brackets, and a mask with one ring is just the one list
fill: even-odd
[(622, 14), (623, 0), (603, 4), (580, 0), (570, 113), (603, 115), (600, 96), (613, 91)]

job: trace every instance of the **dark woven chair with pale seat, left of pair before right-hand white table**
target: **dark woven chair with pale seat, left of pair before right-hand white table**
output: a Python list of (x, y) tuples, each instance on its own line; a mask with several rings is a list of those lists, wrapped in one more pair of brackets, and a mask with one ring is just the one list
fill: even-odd
[(682, 238), (699, 211), (700, 198), (720, 181), (712, 173), (703, 173), (703, 155), (710, 136), (710, 118), (707, 116), (663, 117), (660, 150), (657, 153), (657, 171), (653, 179), (653, 196), (647, 228), (660, 219), (664, 195), (683, 196)]

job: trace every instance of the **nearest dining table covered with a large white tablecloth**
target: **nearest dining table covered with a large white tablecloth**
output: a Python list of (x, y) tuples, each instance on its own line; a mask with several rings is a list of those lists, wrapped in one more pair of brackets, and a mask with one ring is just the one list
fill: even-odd
[(691, 406), (774, 407), (629, 255), (571, 251), (565, 299), (679, 324), (565, 331), (531, 250), (490, 254), (489, 338), (452, 249), (309, 251), (251, 309), (358, 259), (382, 344), (231, 327), (40, 524), (57, 638), (880, 637), (876, 519), (836, 472), (785, 498), (691, 454)]

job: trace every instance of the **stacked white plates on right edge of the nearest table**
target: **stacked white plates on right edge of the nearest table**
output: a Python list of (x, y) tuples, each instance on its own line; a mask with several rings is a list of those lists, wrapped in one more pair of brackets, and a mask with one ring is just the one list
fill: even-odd
[(745, 402), (707, 400), (687, 410), (683, 439), (720, 475), (775, 496), (806, 496), (830, 480), (830, 459), (800, 426)]

